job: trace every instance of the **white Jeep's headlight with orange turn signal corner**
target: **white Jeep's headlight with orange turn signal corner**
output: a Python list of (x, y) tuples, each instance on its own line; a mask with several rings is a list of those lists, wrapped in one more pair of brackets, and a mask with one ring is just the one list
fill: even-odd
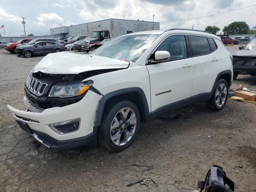
[(49, 97), (73, 97), (80, 96), (89, 90), (92, 81), (77, 84), (54, 85), (50, 91)]

